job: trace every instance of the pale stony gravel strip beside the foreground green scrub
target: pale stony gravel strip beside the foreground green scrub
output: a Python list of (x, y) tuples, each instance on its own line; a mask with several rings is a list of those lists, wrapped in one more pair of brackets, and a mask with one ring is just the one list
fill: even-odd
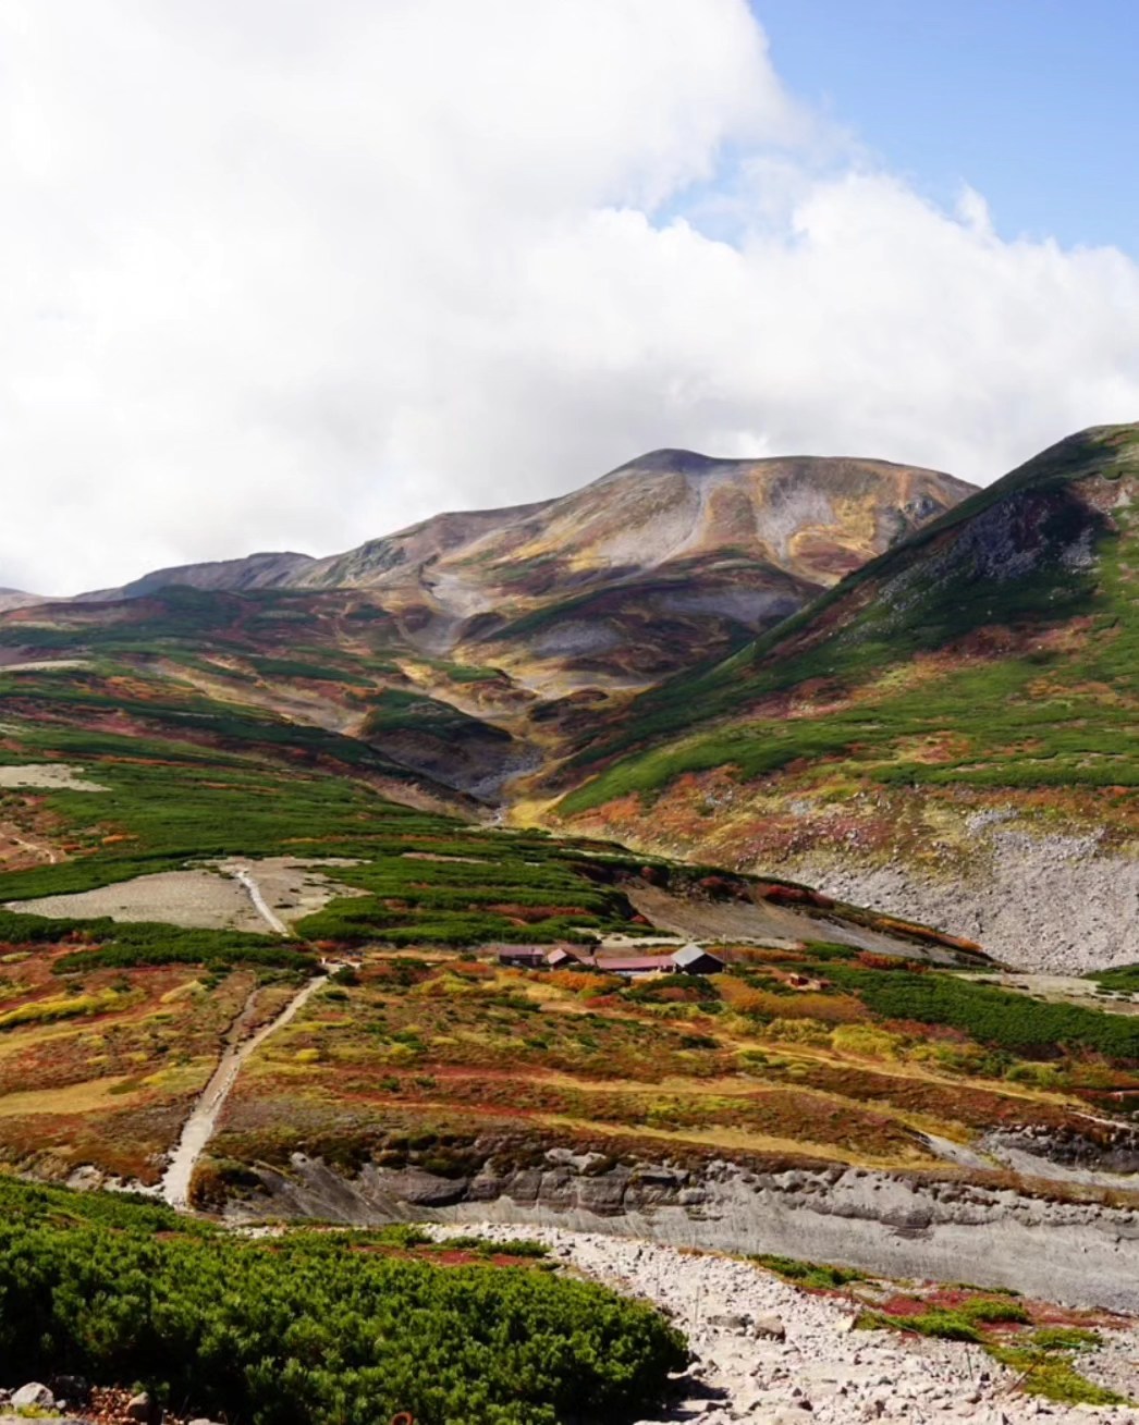
[[(1066, 1406), (1021, 1395), (1014, 1372), (978, 1345), (854, 1331), (848, 1302), (800, 1291), (731, 1257), (557, 1227), (463, 1223), (426, 1230), (438, 1240), (473, 1233), (543, 1243), (555, 1260), (666, 1311), (696, 1359), (670, 1409), (640, 1425), (1139, 1425), (1139, 1408)], [(1108, 1334), (1103, 1349), (1085, 1357), (1079, 1369), (1139, 1394), (1139, 1331)]]

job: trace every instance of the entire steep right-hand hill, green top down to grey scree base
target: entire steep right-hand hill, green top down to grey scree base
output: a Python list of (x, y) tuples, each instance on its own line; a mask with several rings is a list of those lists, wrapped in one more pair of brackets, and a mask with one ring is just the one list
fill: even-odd
[(1138, 494), (1139, 426), (1061, 442), (634, 701), (563, 770), (560, 814), (1014, 960), (1133, 960)]

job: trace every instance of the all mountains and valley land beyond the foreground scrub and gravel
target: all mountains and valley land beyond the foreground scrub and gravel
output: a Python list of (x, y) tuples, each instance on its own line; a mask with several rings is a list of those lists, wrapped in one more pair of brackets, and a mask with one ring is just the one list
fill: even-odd
[(0, 1161), (1139, 1314), (1136, 460), (656, 452), (10, 600)]

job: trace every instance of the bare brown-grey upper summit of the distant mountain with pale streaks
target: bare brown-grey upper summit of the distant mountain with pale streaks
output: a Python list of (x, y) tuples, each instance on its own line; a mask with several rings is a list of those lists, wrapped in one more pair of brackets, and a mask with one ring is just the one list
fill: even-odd
[(331, 559), (157, 570), (84, 601), (201, 590), (359, 590), (418, 651), (572, 691), (726, 653), (972, 486), (884, 460), (713, 460), (657, 450), (572, 494), (439, 514)]

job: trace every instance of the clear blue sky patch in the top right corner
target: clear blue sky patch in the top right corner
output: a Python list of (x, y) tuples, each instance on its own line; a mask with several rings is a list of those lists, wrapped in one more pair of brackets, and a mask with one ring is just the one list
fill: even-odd
[(780, 78), (917, 191), (1005, 238), (1139, 258), (1132, 0), (756, 0)]

